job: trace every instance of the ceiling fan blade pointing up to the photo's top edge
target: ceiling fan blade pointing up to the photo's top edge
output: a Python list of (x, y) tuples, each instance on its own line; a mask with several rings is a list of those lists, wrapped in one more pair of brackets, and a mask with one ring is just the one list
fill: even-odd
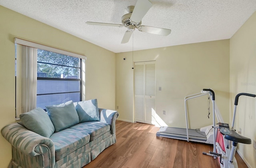
[(152, 3), (149, 0), (138, 0), (130, 20), (134, 23), (139, 23), (148, 10), (151, 8)]

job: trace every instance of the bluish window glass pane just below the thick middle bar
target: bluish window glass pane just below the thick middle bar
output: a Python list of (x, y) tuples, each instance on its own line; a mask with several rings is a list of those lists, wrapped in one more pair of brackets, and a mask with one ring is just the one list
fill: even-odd
[(37, 80), (37, 94), (80, 92), (80, 81)]

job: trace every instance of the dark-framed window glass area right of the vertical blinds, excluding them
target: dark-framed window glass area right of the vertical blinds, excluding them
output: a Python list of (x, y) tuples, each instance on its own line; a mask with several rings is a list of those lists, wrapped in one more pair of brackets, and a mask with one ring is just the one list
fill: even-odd
[(80, 64), (80, 58), (38, 49), (36, 107), (80, 101)]

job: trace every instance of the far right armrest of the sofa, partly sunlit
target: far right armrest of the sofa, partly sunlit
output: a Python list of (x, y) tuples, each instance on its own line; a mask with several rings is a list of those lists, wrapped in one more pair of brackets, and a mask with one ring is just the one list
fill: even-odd
[(110, 130), (112, 134), (116, 133), (116, 118), (118, 118), (118, 112), (114, 110), (107, 110), (99, 108), (100, 122), (110, 124)]

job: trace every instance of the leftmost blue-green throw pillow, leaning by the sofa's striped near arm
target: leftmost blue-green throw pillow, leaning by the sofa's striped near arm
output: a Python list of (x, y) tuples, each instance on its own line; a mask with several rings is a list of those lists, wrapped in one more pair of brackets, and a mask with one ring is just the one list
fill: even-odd
[(54, 132), (52, 121), (42, 108), (20, 114), (20, 119), (27, 129), (41, 136), (49, 138)]

